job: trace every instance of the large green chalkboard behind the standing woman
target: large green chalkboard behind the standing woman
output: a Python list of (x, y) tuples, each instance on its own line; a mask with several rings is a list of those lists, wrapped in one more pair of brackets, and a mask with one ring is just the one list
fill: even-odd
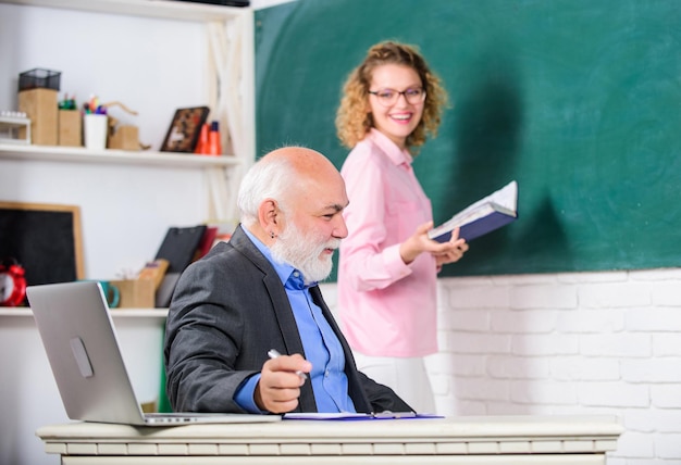
[[(256, 14), (258, 151), (338, 167), (340, 86), (418, 45), (451, 108), (414, 169), (436, 222), (519, 184), (519, 221), (444, 275), (681, 266), (681, 2), (299, 0)], [(350, 231), (351, 234), (351, 231)]]

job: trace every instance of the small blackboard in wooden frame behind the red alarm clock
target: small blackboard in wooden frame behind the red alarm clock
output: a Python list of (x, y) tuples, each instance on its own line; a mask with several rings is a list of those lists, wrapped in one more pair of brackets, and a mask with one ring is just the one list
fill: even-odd
[(26, 271), (28, 286), (85, 276), (78, 205), (0, 202), (0, 260)]

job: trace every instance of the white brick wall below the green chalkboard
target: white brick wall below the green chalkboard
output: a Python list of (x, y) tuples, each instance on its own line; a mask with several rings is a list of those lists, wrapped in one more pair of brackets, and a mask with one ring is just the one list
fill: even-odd
[[(620, 417), (608, 465), (681, 465), (681, 268), (443, 278), (444, 415)], [(335, 309), (335, 285), (323, 293)]]

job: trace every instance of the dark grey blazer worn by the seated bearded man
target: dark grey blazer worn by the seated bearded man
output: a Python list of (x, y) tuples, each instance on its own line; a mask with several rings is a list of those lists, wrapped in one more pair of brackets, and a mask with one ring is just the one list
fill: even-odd
[[(358, 412), (412, 409), (395, 392), (357, 370), (355, 359), (322, 299), (310, 288), (345, 354), (348, 391)], [(238, 226), (182, 274), (165, 328), (166, 392), (176, 412), (244, 410), (234, 393), (259, 373), (268, 351), (304, 354), (302, 342), (282, 281)], [(300, 388), (297, 412), (317, 412), (311, 382)]]

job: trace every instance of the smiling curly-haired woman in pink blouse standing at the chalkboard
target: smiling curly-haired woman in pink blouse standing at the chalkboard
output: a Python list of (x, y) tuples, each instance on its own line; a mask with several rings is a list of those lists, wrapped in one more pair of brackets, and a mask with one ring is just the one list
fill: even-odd
[(458, 230), (428, 238), (431, 202), (411, 167), (447, 96), (413, 46), (371, 47), (336, 116), (351, 149), (340, 171), (349, 236), (340, 243), (338, 313), (360, 369), (420, 412), (435, 412), (425, 355), (437, 351), (436, 278), (468, 250)]

